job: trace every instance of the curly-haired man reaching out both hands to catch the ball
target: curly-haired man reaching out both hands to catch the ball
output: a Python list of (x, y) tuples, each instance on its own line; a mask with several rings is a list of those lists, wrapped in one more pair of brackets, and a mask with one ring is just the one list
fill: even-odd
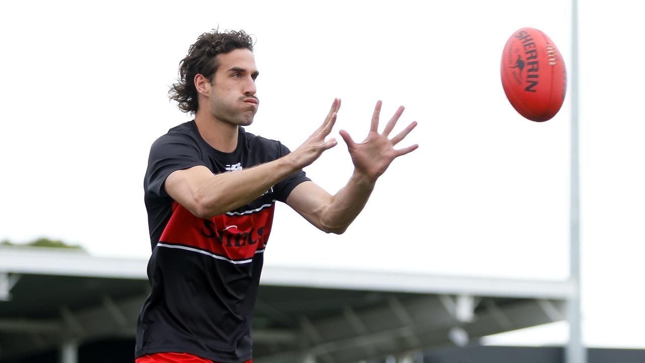
[(340, 99), (298, 149), (246, 132), (259, 99), (251, 38), (244, 32), (203, 34), (180, 63), (170, 96), (195, 114), (152, 145), (144, 180), (152, 257), (152, 293), (137, 324), (137, 363), (249, 362), (251, 318), (275, 201), (286, 202), (326, 233), (343, 233), (360, 213), (416, 126), (388, 139), (403, 107), (377, 132), (381, 101), (368, 137), (341, 130), (354, 172), (335, 195), (311, 182), (303, 167), (336, 145), (325, 140)]

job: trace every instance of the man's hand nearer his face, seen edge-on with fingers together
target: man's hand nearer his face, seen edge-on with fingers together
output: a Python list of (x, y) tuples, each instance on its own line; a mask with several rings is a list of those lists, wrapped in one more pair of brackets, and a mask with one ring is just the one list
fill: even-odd
[(319, 158), (324, 150), (335, 147), (338, 143), (335, 138), (325, 141), (325, 138), (332, 132), (333, 125), (336, 123), (336, 112), (341, 108), (341, 99), (334, 98), (332, 108), (329, 110), (327, 117), (324, 119), (323, 125), (319, 127), (312, 136), (304, 141), (298, 149), (295, 149), (289, 157), (297, 165), (297, 169), (302, 169), (310, 165)]

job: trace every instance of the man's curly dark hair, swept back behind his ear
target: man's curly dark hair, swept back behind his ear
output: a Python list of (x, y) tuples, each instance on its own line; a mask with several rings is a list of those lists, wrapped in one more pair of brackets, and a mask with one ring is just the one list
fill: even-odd
[(195, 44), (188, 48), (188, 55), (179, 62), (179, 78), (177, 83), (170, 86), (168, 97), (177, 101), (183, 112), (195, 114), (199, 108), (195, 76), (202, 74), (212, 82), (219, 67), (215, 56), (239, 48), (253, 52), (253, 39), (244, 30), (224, 30), (220, 33), (213, 29), (199, 36)]

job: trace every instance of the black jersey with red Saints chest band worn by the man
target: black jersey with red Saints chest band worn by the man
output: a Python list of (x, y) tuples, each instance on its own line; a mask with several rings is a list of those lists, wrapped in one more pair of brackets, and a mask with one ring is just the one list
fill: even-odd
[(271, 233), (275, 201), (284, 202), (303, 171), (273, 185), (235, 211), (198, 218), (168, 196), (170, 173), (197, 165), (213, 174), (235, 172), (276, 160), (289, 150), (239, 128), (233, 152), (213, 149), (195, 121), (157, 139), (144, 180), (152, 256), (152, 292), (137, 322), (135, 355), (191, 353), (217, 362), (252, 358), (251, 320)]

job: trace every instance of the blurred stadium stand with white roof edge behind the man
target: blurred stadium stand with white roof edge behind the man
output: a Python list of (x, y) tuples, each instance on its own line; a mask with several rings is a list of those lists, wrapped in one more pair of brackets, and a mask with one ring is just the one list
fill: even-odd
[[(52, 362), (78, 363), (84, 344), (134, 338), (149, 293), (146, 265), (75, 250), (0, 247), (0, 362), (56, 350)], [(253, 316), (253, 357), (413, 362), (427, 349), (564, 320), (575, 291), (568, 281), (267, 264)]]

